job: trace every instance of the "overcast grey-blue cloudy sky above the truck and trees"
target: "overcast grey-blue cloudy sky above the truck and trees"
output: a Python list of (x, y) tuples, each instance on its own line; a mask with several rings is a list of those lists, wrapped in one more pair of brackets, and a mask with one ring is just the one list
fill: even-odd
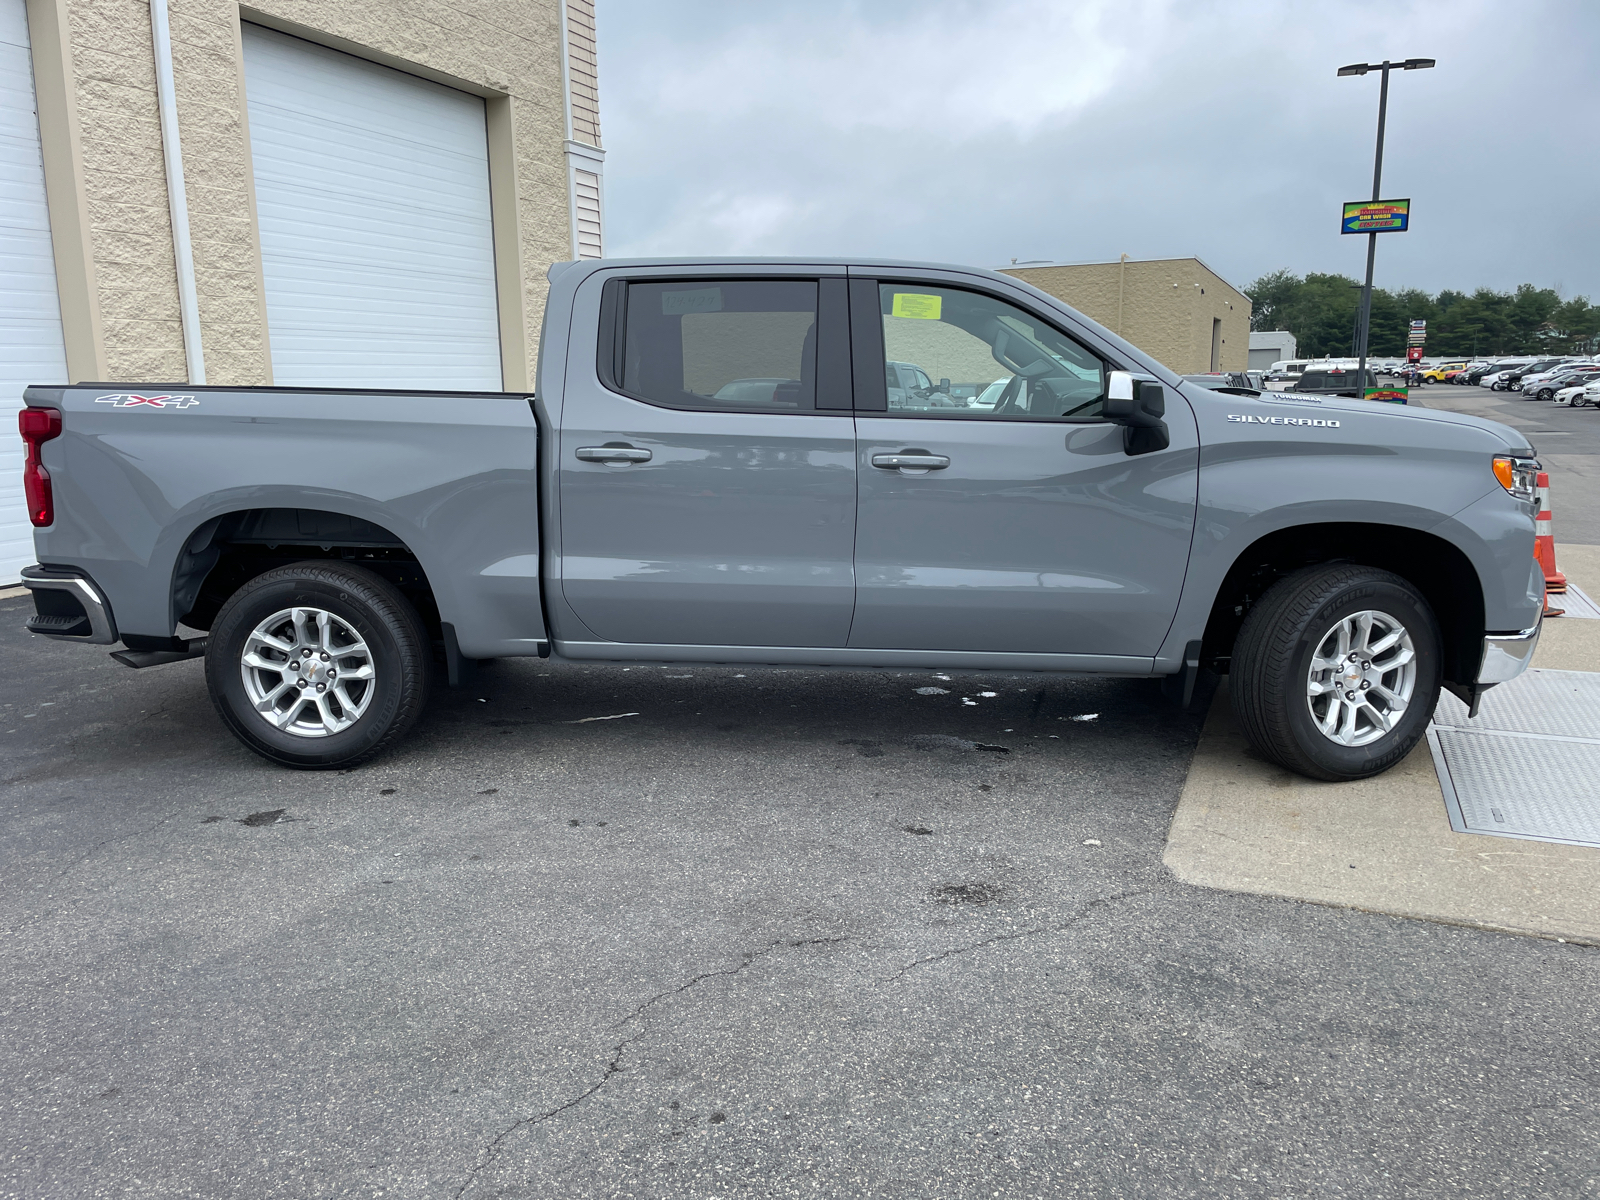
[(1600, 301), (1600, 0), (600, 0), (606, 253), (1195, 254)]

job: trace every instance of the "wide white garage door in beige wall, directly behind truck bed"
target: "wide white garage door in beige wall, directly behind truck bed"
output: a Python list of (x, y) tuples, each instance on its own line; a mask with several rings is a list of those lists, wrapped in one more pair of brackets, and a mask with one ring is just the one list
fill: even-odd
[(483, 101), (245, 26), (272, 376), (501, 387)]

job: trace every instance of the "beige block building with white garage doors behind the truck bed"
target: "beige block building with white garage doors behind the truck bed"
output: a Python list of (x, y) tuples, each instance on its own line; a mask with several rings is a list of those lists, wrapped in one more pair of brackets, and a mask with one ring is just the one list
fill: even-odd
[(594, 0), (0, 0), (0, 419), (69, 379), (530, 389), (603, 157)]

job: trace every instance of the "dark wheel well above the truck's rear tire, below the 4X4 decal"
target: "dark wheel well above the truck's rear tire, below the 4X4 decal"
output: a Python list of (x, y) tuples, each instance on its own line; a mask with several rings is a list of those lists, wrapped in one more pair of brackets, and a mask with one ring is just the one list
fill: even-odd
[(246, 509), (208, 520), (178, 555), (173, 616), (190, 629), (211, 629), (224, 602), (246, 582), (307, 558), (381, 574), (411, 602), (429, 637), (442, 640), (434, 589), (411, 549), (381, 525), (320, 509)]

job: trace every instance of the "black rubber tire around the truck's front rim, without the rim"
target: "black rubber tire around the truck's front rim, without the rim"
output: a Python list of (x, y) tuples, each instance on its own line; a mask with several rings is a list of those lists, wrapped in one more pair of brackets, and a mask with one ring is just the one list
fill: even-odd
[[(1341, 746), (1312, 715), (1312, 658), (1339, 621), (1370, 610), (1403, 626), (1416, 675), (1394, 728), (1365, 746)], [(1344, 563), (1307, 566), (1274, 584), (1245, 618), (1229, 670), (1250, 744), (1296, 774), (1331, 781), (1365, 779), (1405, 758), (1427, 731), (1438, 686), (1438, 622), (1427, 600), (1397, 574)]]

